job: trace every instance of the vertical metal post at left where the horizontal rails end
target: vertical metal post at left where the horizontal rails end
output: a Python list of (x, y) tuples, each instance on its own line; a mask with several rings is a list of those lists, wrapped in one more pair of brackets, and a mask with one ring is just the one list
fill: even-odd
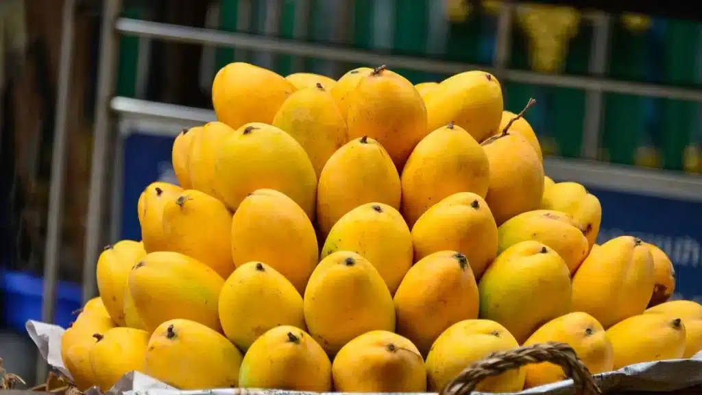
[(95, 264), (98, 260), (103, 235), (102, 206), (105, 204), (105, 160), (107, 143), (112, 130), (110, 99), (114, 93), (117, 67), (118, 37), (114, 22), (120, 11), (119, 0), (102, 2), (102, 27), (100, 31), (100, 61), (98, 63), (98, 88), (95, 98), (95, 129), (93, 131), (93, 158), (91, 164), (88, 212), (86, 214), (85, 253), (83, 261), (83, 300), (95, 295)]

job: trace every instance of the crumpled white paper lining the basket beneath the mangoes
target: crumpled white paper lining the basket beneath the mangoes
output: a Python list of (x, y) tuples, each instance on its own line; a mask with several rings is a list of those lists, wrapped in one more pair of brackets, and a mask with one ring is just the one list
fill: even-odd
[[(27, 321), (27, 332), (39, 348), (39, 353), (53, 368), (59, 370), (66, 377), (71, 374), (61, 361), (61, 335), (64, 329), (58, 325)], [(603, 392), (617, 389), (618, 391), (660, 391), (668, 392), (677, 389), (692, 387), (702, 384), (702, 351), (690, 359), (675, 359), (670, 361), (646, 362), (629, 365), (614, 372), (595, 375), (597, 384)], [(130, 372), (114, 384), (108, 394), (124, 395), (255, 395), (257, 391), (242, 391), (241, 389), (223, 388), (197, 391), (180, 391), (164, 382), (144, 375), (143, 373)], [(288, 394), (315, 394), (312, 392), (266, 390), (269, 395)], [(499, 395), (473, 392), (475, 395)], [(571, 395), (574, 394), (573, 380), (564, 380), (541, 387), (526, 389), (521, 392), (512, 392), (511, 395)], [(98, 389), (91, 389), (86, 395), (100, 395)], [(338, 395), (338, 393), (329, 393)], [(408, 394), (409, 395), (409, 394)], [(418, 395), (418, 394), (417, 394)]]

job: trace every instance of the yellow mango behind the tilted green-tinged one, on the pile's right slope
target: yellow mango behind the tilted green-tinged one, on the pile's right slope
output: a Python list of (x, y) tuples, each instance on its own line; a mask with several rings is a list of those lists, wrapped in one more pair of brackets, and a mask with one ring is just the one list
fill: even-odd
[(590, 246), (595, 244), (597, 235), (600, 234), (602, 206), (600, 206), (600, 200), (588, 193), (584, 186), (579, 183), (565, 182), (556, 183), (548, 189), (544, 188), (541, 208), (571, 215), (583, 229)]

